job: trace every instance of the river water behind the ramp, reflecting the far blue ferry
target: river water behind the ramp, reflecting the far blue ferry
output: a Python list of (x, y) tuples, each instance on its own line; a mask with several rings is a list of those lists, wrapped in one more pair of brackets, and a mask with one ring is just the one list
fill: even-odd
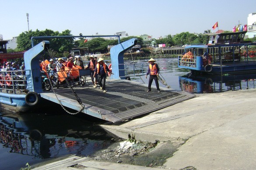
[[(228, 90), (254, 89), (256, 87), (256, 73), (194, 76), (190, 74), (189, 70), (177, 67), (177, 58), (159, 58), (156, 60), (156, 63), (159, 65), (160, 76), (174, 90), (182, 90), (188, 93), (218, 93)], [(129, 63), (147, 63), (147, 60), (126, 62), (126, 64)], [(138, 65), (136, 65), (137, 69), (142, 68), (138, 67)], [(145, 66), (143, 66), (144, 69)], [(138, 76), (135, 73), (135, 76), (132, 76), (131, 79), (148, 83), (145, 75)], [(154, 81), (152, 85), (155, 85)], [(159, 86), (166, 87), (162, 83), (159, 83)]]

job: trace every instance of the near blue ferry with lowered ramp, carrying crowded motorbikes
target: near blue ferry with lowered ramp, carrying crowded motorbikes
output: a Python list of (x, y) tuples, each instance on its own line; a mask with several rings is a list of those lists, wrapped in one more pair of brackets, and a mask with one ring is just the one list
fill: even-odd
[[(120, 43), (120, 37), (118, 37), (118, 44), (111, 47), (113, 74), (106, 82), (107, 93), (103, 93), (99, 86), (94, 88), (94, 85), (90, 85), (88, 80), (91, 79), (80, 78), (90, 77), (90, 70), (77, 69), (78, 67), (73, 68), (73, 70), (63, 70), (62, 74), (58, 73), (59, 76), (62, 75), (62, 77), (59, 77), (59, 81), (67, 81), (68, 88), (57, 88), (53, 87), (52, 84), (48, 86), (48, 83), (44, 86), (45, 77), (42, 78), (39, 58), (50, 47), (50, 41), (47, 39), (75, 37), (93, 36), (32, 37), (32, 48), (24, 53), (25, 74), (16, 74), (21, 70), (2, 70), (0, 73), (0, 82), (3, 82), (2, 85), (0, 84), (1, 107), (16, 112), (26, 112), (58, 103), (59, 108), (62, 108), (64, 113), (65, 111), (69, 114), (85, 113), (88, 116), (117, 123), (194, 97), (193, 94), (171, 90), (170, 88), (162, 88), (161, 93), (157, 93), (157, 90), (146, 93), (147, 84), (126, 80), (124, 53), (136, 45), (136, 38)], [(114, 35), (114, 37), (117, 37), (117, 35)], [(42, 39), (42, 42), (34, 46), (35, 39)], [(74, 74), (71, 73), (72, 71)], [(71, 79), (77, 81), (71, 81), (70, 84), (68, 80), (70, 74), (68, 72), (72, 75)], [(78, 83), (83, 85), (86, 82), (86, 86), (77, 86)]]

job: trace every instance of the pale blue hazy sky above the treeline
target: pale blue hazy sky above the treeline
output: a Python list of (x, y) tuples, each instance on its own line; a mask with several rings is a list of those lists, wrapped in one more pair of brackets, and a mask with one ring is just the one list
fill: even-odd
[[(232, 30), (256, 13), (256, 0), (0, 0), (0, 34), (4, 40), (29, 29), (71, 30), (79, 35), (152, 38), (181, 32)], [(218, 29), (212, 30), (218, 21)]]

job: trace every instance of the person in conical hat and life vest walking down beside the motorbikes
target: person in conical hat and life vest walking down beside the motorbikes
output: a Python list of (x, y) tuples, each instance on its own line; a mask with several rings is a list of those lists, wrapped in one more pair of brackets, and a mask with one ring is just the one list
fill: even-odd
[[(95, 72), (98, 74), (98, 84), (100, 85), (100, 89), (106, 93), (106, 78), (107, 78), (107, 71), (110, 71), (107, 67), (107, 64), (104, 63), (103, 58), (98, 59), (97, 67)], [(94, 77), (93, 77), (94, 78)]]

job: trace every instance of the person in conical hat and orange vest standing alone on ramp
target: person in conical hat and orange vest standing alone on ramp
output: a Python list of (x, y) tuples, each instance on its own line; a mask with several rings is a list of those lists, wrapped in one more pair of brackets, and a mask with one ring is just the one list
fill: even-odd
[(157, 92), (159, 93), (160, 92), (160, 89), (159, 89), (159, 83), (158, 83), (158, 75), (159, 75), (159, 67), (157, 65), (157, 63), (155, 63), (156, 60), (154, 60), (153, 58), (151, 58), (149, 60), (149, 68), (148, 68), (148, 72), (146, 73), (146, 78), (148, 75), (149, 76), (149, 86), (148, 86), (148, 91), (147, 92), (150, 92), (151, 91), (151, 85), (152, 85), (152, 82), (153, 80), (155, 80), (156, 82), (156, 89), (157, 89)]

